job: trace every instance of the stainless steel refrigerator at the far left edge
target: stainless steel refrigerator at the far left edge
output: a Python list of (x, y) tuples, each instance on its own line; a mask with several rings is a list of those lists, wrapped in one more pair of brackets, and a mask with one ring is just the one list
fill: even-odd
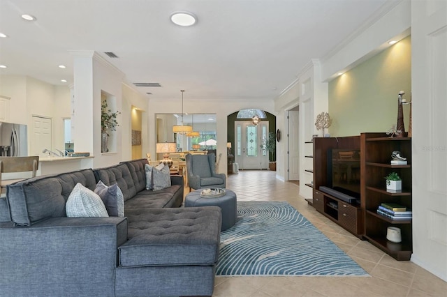
[(28, 155), (27, 125), (0, 122), (0, 155)]

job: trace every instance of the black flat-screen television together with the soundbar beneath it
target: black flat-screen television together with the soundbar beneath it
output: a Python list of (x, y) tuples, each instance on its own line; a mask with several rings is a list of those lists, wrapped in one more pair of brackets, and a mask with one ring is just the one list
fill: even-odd
[(320, 190), (349, 203), (360, 203), (360, 150), (331, 148), (327, 160), (327, 183)]

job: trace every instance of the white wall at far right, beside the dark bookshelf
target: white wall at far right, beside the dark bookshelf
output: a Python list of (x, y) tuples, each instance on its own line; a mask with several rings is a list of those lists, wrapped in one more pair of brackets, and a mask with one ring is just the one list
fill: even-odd
[(447, 2), (411, 3), (411, 261), (447, 281)]

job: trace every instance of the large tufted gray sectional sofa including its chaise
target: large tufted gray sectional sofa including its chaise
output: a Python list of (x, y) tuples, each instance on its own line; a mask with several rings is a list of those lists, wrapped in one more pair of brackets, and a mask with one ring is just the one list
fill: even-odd
[[(211, 296), (221, 211), (181, 208), (183, 178), (145, 190), (145, 159), (38, 176), (0, 199), (0, 296)], [(67, 218), (77, 183), (117, 183), (124, 218)]]

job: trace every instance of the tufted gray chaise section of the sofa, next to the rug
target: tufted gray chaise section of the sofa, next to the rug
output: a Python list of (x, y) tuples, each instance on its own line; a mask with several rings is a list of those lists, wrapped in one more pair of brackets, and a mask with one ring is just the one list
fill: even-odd
[(221, 210), (126, 211), (129, 241), (119, 247), (117, 296), (211, 296)]

